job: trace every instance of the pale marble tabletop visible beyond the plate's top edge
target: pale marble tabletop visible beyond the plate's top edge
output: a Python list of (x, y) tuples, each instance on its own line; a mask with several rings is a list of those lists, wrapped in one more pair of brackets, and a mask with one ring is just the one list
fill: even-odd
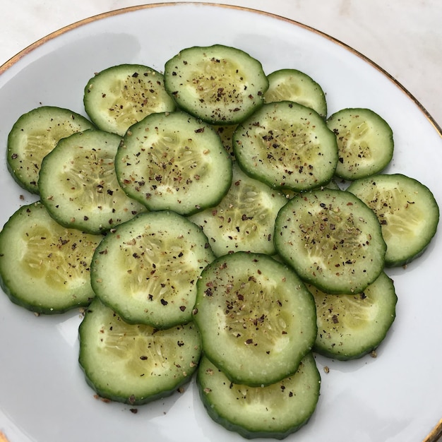
[[(136, 0), (2, 0), (0, 64), (77, 20)], [(292, 18), (362, 52), (396, 78), (442, 126), (442, 1), (224, 0)]]

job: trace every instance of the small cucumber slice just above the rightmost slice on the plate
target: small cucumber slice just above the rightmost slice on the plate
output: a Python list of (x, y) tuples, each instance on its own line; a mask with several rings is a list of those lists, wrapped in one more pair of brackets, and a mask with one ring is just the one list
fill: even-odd
[(370, 109), (342, 109), (327, 119), (336, 134), (339, 162), (336, 175), (354, 180), (377, 174), (393, 157), (393, 131)]

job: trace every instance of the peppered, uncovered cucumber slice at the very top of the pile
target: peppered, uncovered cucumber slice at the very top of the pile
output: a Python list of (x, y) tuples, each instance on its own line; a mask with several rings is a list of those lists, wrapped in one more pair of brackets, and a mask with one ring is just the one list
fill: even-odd
[(165, 88), (178, 106), (211, 124), (235, 124), (263, 104), (268, 80), (241, 49), (189, 47), (165, 64)]

